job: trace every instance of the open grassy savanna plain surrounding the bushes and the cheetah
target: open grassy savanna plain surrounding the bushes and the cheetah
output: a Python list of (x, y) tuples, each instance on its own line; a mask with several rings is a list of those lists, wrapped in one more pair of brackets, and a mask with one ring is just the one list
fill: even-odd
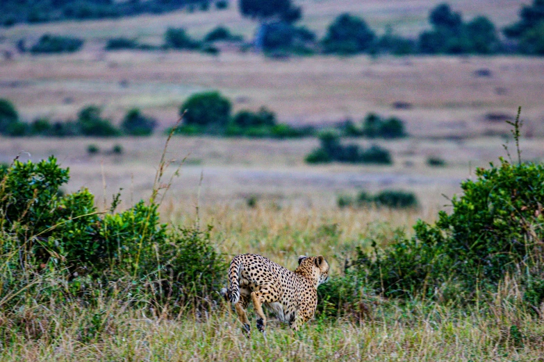
[[(308, 7), (304, 21), (316, 32), (324, 32), (340, 9), (364, 15), (372, 26), (393, 22), (399, 33), (410, 33), (425, 27), (428, 9), (436, 5), (301, 3), (310, 2), (315, 6)], [(504, 25), (516, 17), (519, 5), (457, 1), (455, 6), (466, 15), (485, 13)], [(463, 180), (477, 180), (476, 170), (491, 167), (489, 162), (500, 164), (498, 157), (509, 160), (503, 144), (514, 164), (515, 139), (504, 120), (514, 121), (518, 106), (524, 120), (522, 160), (543, 162), (543, 58), (316, 55), (274, 60), (251, 51), (211, 56), (101, 50), (106, 37), (138, 35), (154, 42), (173, 25), (186, 26), (194, 35), (218, 23), (248, 36), (254, 31), (255, 24), (240, 17), (236, 7), (212, 15), (173, 12), (17, 25), (3, 31), (1, 44), (45, 31), (88, 41), (74, 54), (0, 61), (0, 96), (13, 100), (22, 117), (66, 120), (94, 103), (118, 120), (130, 107), (140, 107), (158, 120), (160, 132), (112, 139), (2, 137), (0, 161), (10, 163), (19, 155), (24, 162), (38, 162), (55, 155), (70, 174), (59, 194), (88, 188), (98, 212), (113, 213), (115, 208), (109, 208), (114, 203), (118, 210), (128, 210), (140, 199), (153, 198), (167, 228), (206, 233), (210, 225), (206, 237), (222, 261), (254, 252), (294, 270), (299, 255), (324, 255), (331, 275), (338, 278), (349, 274), (350, 263), (361, 252), (372, 255), (399, 238), (410, 239), (418, 220), (433, 224), (439, 212), (451, 213), (452, 197), (463, 194)], [(176, 123), (183, 99), (209, 89), (229, 96), (235, 110), (266, 105), (292, 126), (327, 128), (376, 112), (402, 119), (409, 136), (378, 141), (392, 153), (390, 166), (306, 164), (305, 155), (319, 144), (314, 137), (167, 139), (163, 131)], [(350, 142), (371, 144), (365, 139)], [(91, 144), (98, 153), (88, 152)], [(122, 153), (111, 151), (115, 145)], [(429, 157), (443, 160), (443, 166), (429, 166)], [(342, 196), (385, 189), (415, 193), (418, 206), (338, 205)], [(542, 223), (534, 230), (541, 233)], [(14, 235), (17, 230), (4, 231), (2, 245)], [(2, 251), (0, 270), (9, 270), (13, 258), (22, 260), (24, 248), (20, 250), (15, 257)], [(196, 299), (180, 306), (158, 299), (154, 288), (167, 285), (160, 272), (142, 288), (132, 288), (135, 278), (126, 277), (115, 285), (87, 281), (88, 291), (72, 291), (68, 281), (85, 272), (66, 266), (67, 276), (63, 268), (51, 268), (44, 277), (24, 270), (22, 275), (33, 282), (0, 300), (0, 306), (12, 306), (0, 311), (0, 361), (544, 361), (544, 307), (524, 302), (522, 267), (504, 275), (497, 288), (481, 292), (477, 282), (470, 302), (444, 299), (440, 288), (425, 291), (425, 286), (409, 298), (393, 298), (365, 288), (364, 280), (355, 294), (327, 289), (352, 294), (334, 299), (336, 305), (332, 298), (320, 302), (315, 318), (297, 333), (270, 315), (266, 340), (256, 331), (254, 318), (251, 338), (242, 334), (236, 313), (217, 288), (196, 293)], [(35, 298), (51, 288), (63, 296)]]

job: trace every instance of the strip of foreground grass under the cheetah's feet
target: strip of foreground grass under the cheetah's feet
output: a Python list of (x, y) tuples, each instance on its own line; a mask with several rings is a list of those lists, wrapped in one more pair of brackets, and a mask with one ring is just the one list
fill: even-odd
[(511, 297), (464, 310), (377, 300), (361, 320), (313, 320), (297, 334), (272, 321), (266, 341), (254, 321), (245, 338), (224, 305), (181, 318), (115, 300), (34, 306), (2, 316), (0, 361), (535, 361), (544, 324)]

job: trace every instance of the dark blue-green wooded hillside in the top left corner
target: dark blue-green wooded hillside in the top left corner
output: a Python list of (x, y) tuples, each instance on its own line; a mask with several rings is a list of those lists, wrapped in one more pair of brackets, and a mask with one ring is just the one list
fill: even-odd
[(180, 8), (206, 10), (211, 3), (220, 7), (228, 5), (224, 0), (0, 0), (0, 24), (12, 26), (65, 19), (116, 18), (160, 14)]

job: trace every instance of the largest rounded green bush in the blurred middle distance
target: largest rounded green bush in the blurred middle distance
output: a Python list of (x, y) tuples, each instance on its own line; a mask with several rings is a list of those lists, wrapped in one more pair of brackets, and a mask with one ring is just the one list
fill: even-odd
[(190, 96), (179, 114), (184, 114), (183, 123), (222, 130), (231, 119), (231, 101), (219, 92), (204, 92)]

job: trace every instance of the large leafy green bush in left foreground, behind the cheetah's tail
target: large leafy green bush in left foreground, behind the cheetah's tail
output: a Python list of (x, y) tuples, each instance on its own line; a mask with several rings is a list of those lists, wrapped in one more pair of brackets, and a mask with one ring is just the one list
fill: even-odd
[[(33, 300), (40, 295), (40, 302), (66, 298), (67, 293), (76, 293), (69, 298), (85, 298), (83, 284), (97, 283), (107, 295), (119, 293), (110, 286), (128, 282), (126, 292), (136, 289), (173, 309), (181, 310), (189, 302), (195, 307), (211, 305), (226, 265), (211, 243), (209, 229), (167, 230), (159, 223), (154, 202), (140, 201), (115, 213), (119, 195), (108, 213), (100, 215), (88, 190), (67, 195), (59, 191), (69, 172), (54, 157), (37, 164), (15, 161), (0, 175), (0, 279), (8, 288), (0, 289), (2, 298), (13, 288), (28, 289)], [(48, 273), (57, 273), (51, 286), (41, 279)], [(37, 278), (41, 284), (35, 290)], [(15, 296), (9, 305), (28, 298), (26, 293)]]

